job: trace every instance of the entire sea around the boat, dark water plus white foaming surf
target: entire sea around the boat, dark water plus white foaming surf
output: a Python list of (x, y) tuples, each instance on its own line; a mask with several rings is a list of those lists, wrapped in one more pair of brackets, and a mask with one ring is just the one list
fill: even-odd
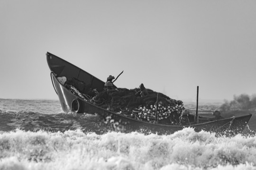
[(0, 170), (256, 170), (255, 124), (253, 114), (233, 137), (125, 134), (102, 129), (97, 115), (64, 113), (59, 101), (0, 99)]

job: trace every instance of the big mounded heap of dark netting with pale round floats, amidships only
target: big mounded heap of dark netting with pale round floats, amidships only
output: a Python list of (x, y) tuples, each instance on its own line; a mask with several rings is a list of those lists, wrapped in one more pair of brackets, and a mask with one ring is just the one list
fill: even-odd
[[(91, 100), (95, 105), (117, 112), (130, 118), (162, 123), (179, 124), (179, 117), (184, 110), (183, 102), (171, 99), (163, 93), (147, 89), (146, 96), (139, 95), (140, 89), (116, 88), (100, 92)], [(156, 108), (157, 107), (157, 108)], [(157, 119), (156, 117), (157, 109)]]

